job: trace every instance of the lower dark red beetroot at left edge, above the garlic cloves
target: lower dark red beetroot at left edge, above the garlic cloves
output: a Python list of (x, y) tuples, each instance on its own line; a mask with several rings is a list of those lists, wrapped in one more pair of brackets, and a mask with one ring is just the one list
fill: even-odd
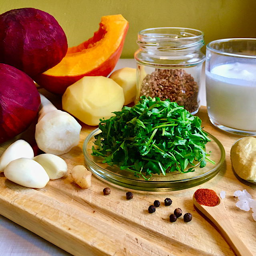
[(29, 127), (40, 102), (36, 85), (28, 75), (0, 63), (0, 143)]

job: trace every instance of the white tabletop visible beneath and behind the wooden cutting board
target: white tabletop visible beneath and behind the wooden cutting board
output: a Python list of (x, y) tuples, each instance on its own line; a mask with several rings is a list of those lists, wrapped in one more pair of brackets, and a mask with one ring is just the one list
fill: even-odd
[[(120, 59), (114, 70), (136, 68), (133, 59)], [(201, 105), (206, 106), (205, 75), (202, 71)], [(1, 207), (1, 206), (0, 206)], [(0, 256), (56, 256), (71, 254), (0, 215)]]

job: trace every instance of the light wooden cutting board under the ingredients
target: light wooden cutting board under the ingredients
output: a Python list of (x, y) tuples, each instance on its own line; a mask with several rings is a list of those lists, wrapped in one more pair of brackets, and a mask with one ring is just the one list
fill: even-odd
[[(44, 94), (60, 106), (58, 97)], [(224, 190), (230, 221), (241, 240), (256, 255), (256, 222), (252, 211), (238, 209), (235, 206), (237, 198), (233, 196), (234, 191), (247, 189), (256, 199), (256, 185), (239, 179), (230, 162), (230, 148), (240, 136), (214, 127), (206, 107), (201, 107), (198, 115), (204, 129), (226, 150), (226, 160), (220, 172), (210, 181), (180, 191), (133, 191), (133, 199), (126, 200), (125, 194), (131, 190), (104, 183), (95, 176), (89, 189), (80, 189), (70, 175), (49, 181), (43, 189), (30, 189), (8, 181), (0, 173), (0, 214), (73, 255), (230, 256), (234, 255), (230, 246), (210, 220), (194, 208), (192, 201), (198, 188), (214, 189), (217, 194)], [(22, 135), (1, 144), (0, 155), (18, 138), (33, 141), (33, 129), (32, 125)], [(84, 164), (83, 141), (94, 129), (83, 125), (79, 145), (61, 155), (69, 171), (75, 165)], [(107, 186), (111, 188), (111, 194), (104, 196), (103, 189)], [(163, 204), (167, 197), (173, 201), (171, 206)], [(147, 209), (155, 200), (161, 205), (155, 213), (149, 214)], [(190, 212), (192, 221), (185, 223), (181, 217), (171, 223), (169, 215), (175, 208), (181, 208), (183, 214)]]

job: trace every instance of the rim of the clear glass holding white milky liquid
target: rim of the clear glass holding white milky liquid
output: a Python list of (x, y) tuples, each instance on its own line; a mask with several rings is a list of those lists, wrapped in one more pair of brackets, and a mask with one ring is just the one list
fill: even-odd
[(214, 41), (209, 42), (206, 45), (206, 50), (211, 50), (212, 52), (222, 54), (222, 55), (226, 55), (226, 56), (232, 56), (232, 57), (251, 58), (251, 59), (256, 58), (256, 55), (246, 55), (246, 54), (239, 54), (239, 53), (224, 52), (222, 50), (214, 49), (211, 46), (214, 43), (232, 42), (232, 41), (242, 41), (242, 42), (252, 41), (252, 42), (256, 43), (256, 38), (224, 38), (224, 39), (218, 39), (218, 40), (214, 40)]

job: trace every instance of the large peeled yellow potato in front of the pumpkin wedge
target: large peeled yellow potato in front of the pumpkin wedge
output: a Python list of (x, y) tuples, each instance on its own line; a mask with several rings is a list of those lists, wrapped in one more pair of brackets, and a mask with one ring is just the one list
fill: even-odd
[(62, 108), (87, 125), (99, 125), (121, 111), (125, 102), (123, 89), (107, 77), (83, 77), (70, 85), (62, 96)]

